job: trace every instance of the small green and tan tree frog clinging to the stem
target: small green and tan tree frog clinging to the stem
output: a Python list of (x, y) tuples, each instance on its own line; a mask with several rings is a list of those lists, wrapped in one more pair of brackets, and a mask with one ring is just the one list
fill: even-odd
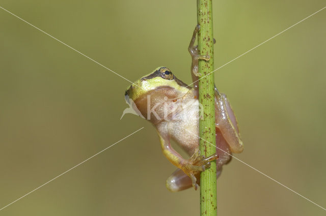
[[(193, 87), (179, 80), (167, 67), (159, 67), (135, 81), (125, 92), (126, 102), (153, 124), (164, 155), (178, 168), (166, 181), (168, 190), (172, 192), (191, 187), (196, 190), (200, 184), (200, 172), (209, 168), (212, 160), (216, 160), (218, 177), (222, 166), (231, 160), (231, 154), (243, 150), (237, 120), (230, 103), (226, 95), (214, 87), (216, 153), (209, 157), (200, 155), (198, 60), (209, 60), (209, 56), (199, 55), (197, 46), (194, 46), (199, 29), (200, 26), (197, 25), (188, 47), (192, 56)], [(191, 157), (182, 158), (173, 149), (170, 140), (179, 144)]]

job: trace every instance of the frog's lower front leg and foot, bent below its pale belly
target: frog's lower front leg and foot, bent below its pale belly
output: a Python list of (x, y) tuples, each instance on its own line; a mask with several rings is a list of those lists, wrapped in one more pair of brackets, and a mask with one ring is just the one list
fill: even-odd
[[(167, 159), (180, 170), (182, 170), (191, 180), (192, 186), (197, 190), (197, 178), (198, 173), (205, 171), (210, 166), (210, 161), (219, 158), (216, 153), (210, 157), (205, 158), (200, 155), (199, 148), (194, 152), (194, 155), (189, 159), (183, 159), (179, 153), (174, 150), (170, 144), (170, 139), (168, 135), (158, 134), (161, 143), (162, 151)], [(168, 187), (169, 189), (169, 187)]]

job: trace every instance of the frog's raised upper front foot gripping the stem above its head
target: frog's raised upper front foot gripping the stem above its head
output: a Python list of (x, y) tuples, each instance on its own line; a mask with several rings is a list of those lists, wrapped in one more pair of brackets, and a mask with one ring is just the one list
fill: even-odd
[(192, 40), (190, 41), (189, 47), (188, 47), (188, 51), (190, 53), (190, 55), (192, 56), (192, 72), (200, 77), (201, 74), (198, 73), (198, 59), (204, 59), (206, 61), (208, 61), (210, 59), (209, 55), (200, 55), (198, 53), (198, 46), (194, 46), (195, 41), (196, 41), (196, 35), (198, 33), (200, 29), (200, 25), (197, 24), (193, 33), (193, 37)]

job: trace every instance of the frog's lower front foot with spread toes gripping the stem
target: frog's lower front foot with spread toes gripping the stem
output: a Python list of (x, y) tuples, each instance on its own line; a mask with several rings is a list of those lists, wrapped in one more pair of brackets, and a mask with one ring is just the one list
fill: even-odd
[(195, 190), (198, 188), (196, 175), (199, 172), (205, 171), (205, 169), (210, 167), (210, 161), (216, 160), (219, 158), (217, 153), (205, 158), (205, 156), (200, 155), (200, 150), (197, 148), (194, 152), (194, 155), (186, 160), (186, 163), (182, 164), (181, 169), (185, 174), (189, 176), (192, 180), (193, 187)]

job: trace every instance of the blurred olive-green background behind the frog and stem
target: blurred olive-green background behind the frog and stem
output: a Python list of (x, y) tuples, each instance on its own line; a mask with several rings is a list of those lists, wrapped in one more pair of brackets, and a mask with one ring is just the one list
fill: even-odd
[[(1, 1), (134, 81), (158, 66), (191, 83), (195, 1)], [(215, 68), (325, 6), (214, 1)], [(238, 117), (235, 155), (326, 207), (326, 10), (215, 72)], [(120, 116), (129, 83), (0, 9), (0, 208), (126, 135), (0, 215), (198, 215), (199, 192), (170, 193), (175, 170), (149, 122)], [(179, 149), (179, 148), (177, 148)], [(179, 149), (180, 150), (180, 149)], [(324, 215), (236, 160), (218, 180), (219, 215)]]

